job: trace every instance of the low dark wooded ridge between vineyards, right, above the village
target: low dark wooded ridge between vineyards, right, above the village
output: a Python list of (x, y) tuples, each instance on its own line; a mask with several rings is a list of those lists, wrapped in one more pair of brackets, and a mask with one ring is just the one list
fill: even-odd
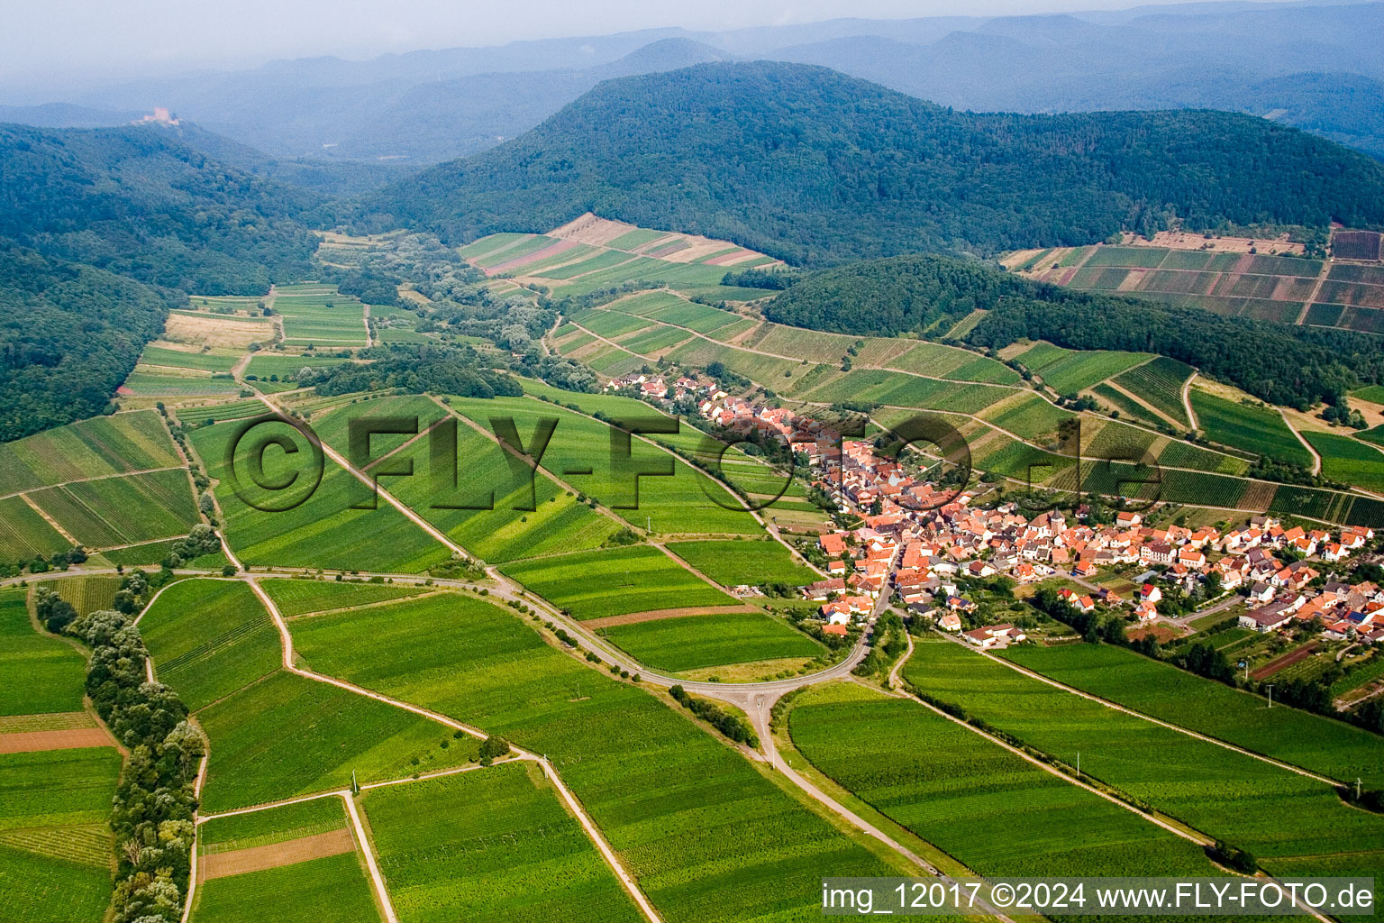
[(1384, 375), (1367, 333), (1222, 317), (1196, 307), (1088, 295), (977, 262), (931, 255), (865, 260), (807, 275), (770, 302), (770, 320), (839, 333), (940, 336), (972, 310), (987, 314), (973, 346), (1046, 339), (1068, 349), (1158, 353), (1275, 404), (1340, 403)]

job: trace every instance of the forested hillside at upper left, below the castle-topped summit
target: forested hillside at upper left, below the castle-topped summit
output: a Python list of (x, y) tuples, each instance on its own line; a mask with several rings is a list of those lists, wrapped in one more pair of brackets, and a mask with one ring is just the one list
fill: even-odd
[(202, 293), (310, 273), (320, 198), (224, 166), (154, 126), (0, 125), (0, 241)]

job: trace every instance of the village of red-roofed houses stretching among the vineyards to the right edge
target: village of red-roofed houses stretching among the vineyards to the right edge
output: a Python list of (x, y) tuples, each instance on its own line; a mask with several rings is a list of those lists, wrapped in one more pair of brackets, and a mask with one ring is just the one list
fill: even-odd
[[(1192, 529), (1158, 522), (1156, 508), (1098, 515), (1081, 504), (1068, 516), (1032, 513), (1016, 501), (972, 505), (969, 490), (920, 479), (922, 472), (909, 473), (868, 441), (843, 440), (821, 421), (734, 397), (716, 381), (631, 374), (606, 389), (695, 405), (713, 426), (786, 443), (811, 466), (812, 486), (854, 513), (855, 527), (817, 538), (828, 578), (800, 588), (819, 603), (828, 634), (868, 623), (883, 595), (911, 619), (977, 648), (1023, 642), (1024, 630), (1009, 621), (983, 624), (965, 590), (1008, 578), (1014, 596), (1024, 595), (1021, 587), (1060, 583), (1057, 595), (1074, 614), (1122, 616), (1131, 634), (1163, 624), (1165, 638), (1176, 637), (1190, 614), (1233, 607), (1237, 624), (1254, 632), (1309, 627), (1326, 641), (1384, 641), (1384, 588), (1329, 578), (1329, 570), (1342, 570), (1329, 565), (1370, 547), (1367, 527), (1305, 529), (1265, 515), (1225, 530)], [(1122, 581), (1133, 584), (1131, 591), (1100, 585), (1102, 576), (1131, 569), (1139, 572)], [(1178, 605), (1165, 605), (1172, 598)]]

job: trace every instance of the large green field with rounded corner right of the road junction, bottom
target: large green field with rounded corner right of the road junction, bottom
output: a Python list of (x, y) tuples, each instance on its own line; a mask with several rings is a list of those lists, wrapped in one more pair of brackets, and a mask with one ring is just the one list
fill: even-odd
[(913, 700), (815, 688), (789, 729), (812, 765), (985, 876), (1210, 876), (1201, 850)]

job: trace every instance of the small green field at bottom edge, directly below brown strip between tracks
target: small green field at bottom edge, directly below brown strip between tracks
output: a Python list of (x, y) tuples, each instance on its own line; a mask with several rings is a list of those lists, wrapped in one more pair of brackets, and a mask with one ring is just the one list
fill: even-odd
[(198, 886), (192, 923), (374, 923), (375, 895), (354, 854), (212, 879)]

